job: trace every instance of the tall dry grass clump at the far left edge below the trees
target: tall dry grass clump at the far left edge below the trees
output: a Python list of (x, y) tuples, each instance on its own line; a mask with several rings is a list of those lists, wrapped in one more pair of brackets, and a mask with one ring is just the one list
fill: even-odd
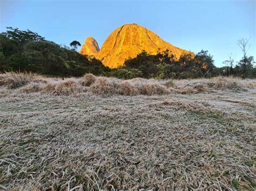
[(0, 74), (0, 86), (10, 89), (20, 88), (32, 81), (32, 74), (8, 72)]

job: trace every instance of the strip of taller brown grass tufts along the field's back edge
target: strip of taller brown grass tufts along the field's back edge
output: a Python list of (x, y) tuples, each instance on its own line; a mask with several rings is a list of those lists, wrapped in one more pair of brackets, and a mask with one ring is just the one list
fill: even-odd
[(89, 91), (98, 95), (164, 95), (210, 93), (213, 90), (246, 91), (256, 88), (255, 80), (241, 80), (234, 77), (214, 77), (195, 80), (147, 80), (142, 78), (119, 80), (111, 77), (97, 77), (85, 74), (82, 78), (65, 81), (45, 78), (35, 74), (0, 74), (0, 86), (9, 89), (21, 88), (25, 93), (41, 91), (53, 95), (80, 95)]

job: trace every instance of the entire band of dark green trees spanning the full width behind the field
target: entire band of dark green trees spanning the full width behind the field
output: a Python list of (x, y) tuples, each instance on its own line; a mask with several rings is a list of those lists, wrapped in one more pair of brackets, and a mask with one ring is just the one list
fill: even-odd
[(224, 67), (214, 66), (213, 56), (208, 51), (197, 54), (183, 54), (177, 59), (166, 50), (157, 55), (143, 51), (136, 58), (129, 58), (123, 67), (110, 69), (95, 58), (77, 53), (80, 43), (76, 40), (68, 46), (60, 46), (30, 30), (21, 31), (7, 27), (0, 34), (0, 72), (33, 72), (50, 76), (82, 76), (85, 73), (113, 76), (122, 79), (134, 77), (156, 79), (187, 79), (212, 77), (217, 75), (234, 75), (256, 77), (253, 56), (247, 55), (248, 40), (238, 42), (243, 57), (234, 66), (230, 55), (224, 61)]

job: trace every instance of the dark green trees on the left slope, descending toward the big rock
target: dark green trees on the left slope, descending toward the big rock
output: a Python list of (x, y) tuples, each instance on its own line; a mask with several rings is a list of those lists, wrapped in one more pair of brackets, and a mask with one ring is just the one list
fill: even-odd
[(0, 34), (2, 72), (33, 72), (60, 77), (82, 76), (85, 73), (104, 75), (110, 72), (99, 60), (88, 59), (77, 53), (76, 44), (74, 48), (62, 47), (30, 30), (7, 29)]

